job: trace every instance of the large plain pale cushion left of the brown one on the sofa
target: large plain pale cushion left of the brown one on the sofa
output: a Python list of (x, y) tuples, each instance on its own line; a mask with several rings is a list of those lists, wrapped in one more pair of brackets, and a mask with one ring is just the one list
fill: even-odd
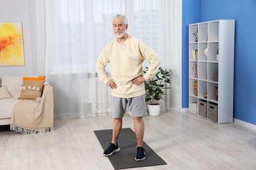
[(6, 86), (12, 97), (20, 96), (22, 76), (3, 76), (1, 86)]

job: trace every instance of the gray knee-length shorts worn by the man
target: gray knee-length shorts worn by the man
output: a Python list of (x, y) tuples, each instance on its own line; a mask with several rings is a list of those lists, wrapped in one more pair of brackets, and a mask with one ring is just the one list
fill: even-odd
[(140, 95), (138, 97), (132, 98), (120, 98), (120, 97), (112, 97), (112, 117), (113, 118), (121, 118), (125, 114), (126, 108), (129, 108), (131, 115), (134, 117), (142, 117), (146, 116), (148, 113), (146, 112), (146, 101), (145, 95)]

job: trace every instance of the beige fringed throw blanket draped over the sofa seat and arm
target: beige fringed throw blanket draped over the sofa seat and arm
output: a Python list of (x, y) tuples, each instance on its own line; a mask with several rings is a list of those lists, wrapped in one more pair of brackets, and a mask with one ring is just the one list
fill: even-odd
[(41, 102), (22, 100), (12, 109), (11, 130), (19, 133), (45, 133), (53, 130), (53, 88), (44, 86)]

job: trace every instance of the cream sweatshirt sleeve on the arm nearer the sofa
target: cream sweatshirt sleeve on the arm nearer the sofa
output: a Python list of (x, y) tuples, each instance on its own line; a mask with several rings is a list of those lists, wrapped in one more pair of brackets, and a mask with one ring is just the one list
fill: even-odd
[(100, 81), (102, 81), (104, 84), (110, 80), (108, 75), (106, 74), (106, 65), (110, 62), (110, 59), (108, 58), (108, 55), (106, 54), (106, 48), (100, 53), (100, 56), (98, 57), (96, 61), (96, 71), (98, 73), (98, 78)]

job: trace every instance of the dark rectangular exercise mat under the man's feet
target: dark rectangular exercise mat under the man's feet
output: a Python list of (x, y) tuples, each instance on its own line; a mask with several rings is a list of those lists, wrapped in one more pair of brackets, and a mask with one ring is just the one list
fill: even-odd
[[(100, 142), (103, 150), (108, 147), (108, 144), (112, 139), (112, 129), (97, 130), (94, 131), (98, 141)], [(165, 165), (165, 161), (144, 143), (144, 149), (146, 150), (146, 159), (143, 161), (136, 161), (135, 156), (137, 154), (137, 141), (134, 131), (130, 128), (121, 129), (121, 133), (118, 139), (118, 146), (121, 149), (119, 152), (108, 156), (108, 159), (112, 163), (114, 169), (126, 169), (133, 167), (148, 167), (154, 165)]]

